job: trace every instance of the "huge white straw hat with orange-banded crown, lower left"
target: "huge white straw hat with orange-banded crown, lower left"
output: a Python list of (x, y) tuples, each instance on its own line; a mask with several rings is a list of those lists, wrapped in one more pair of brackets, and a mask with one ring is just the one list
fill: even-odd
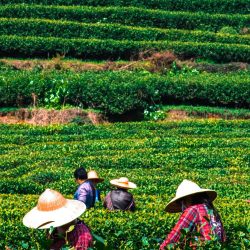
[(23, 224), (39, 229), (59, 227), (75, 220), (85, 210), (83, 202), (65, 199), (59, 192), (46, 189), (40, 195), (37, 206), (24, 216)]

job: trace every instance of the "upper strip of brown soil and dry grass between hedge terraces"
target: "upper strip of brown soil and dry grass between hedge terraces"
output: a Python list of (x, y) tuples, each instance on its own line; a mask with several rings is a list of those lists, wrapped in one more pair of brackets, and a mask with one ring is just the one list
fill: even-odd
[[(167, 58), (169, 59), (169, 58)], [(181, 61), (176, 59), (177, 65), (179, 68), (183, 66), (189, 66), (195, 68), (199, 71), (206, 72), (221, 72), (228, 73), (239, 70), (250, 70), (250, 64), (242, 62), (231, 62), (225, 64), (210, 64), (210, 63), (196, 63), (193, 60)], [(159, 64), (160, 63), (160, 64)], [(105, 70), (114, 70), (114, 71), (123, 71), (123, 70), (138, 70), (144, 69), (150, 72), (162, 72), (166, 71), (166, 68), (171, 67), (171, 64), (168, 66), (163, 63), (162, 60), (156, 60), (155, 58), (149, 57), (141, 60), (128, 61), (128, 62), (119, 62), (119, 61), (106, 61), (102, 63), (91, 63), (84, 62), (80, 60), (63, 60), (63, 58), (55, 57), (50, 60), (10, 60), (10, 59), (0, 59), (0, 65), (5, 65), (14, 70), (71, 70), (73, 72), (84, 72), (84, 71), (105, 71)], [(162, 65), (163, 64), (163, 65)], [(164, 70), (163, 70), (164, 69)]]

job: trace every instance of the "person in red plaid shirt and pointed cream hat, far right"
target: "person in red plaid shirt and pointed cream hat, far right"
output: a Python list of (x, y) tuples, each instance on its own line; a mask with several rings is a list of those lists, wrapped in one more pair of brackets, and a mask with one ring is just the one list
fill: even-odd
[(213, 238), (224, 242), (226, 237), (221, 218), (212, 204), (216, 196), (217, 193), (214, 190), (202, 189), (192, 181), (183, 180), (177, 188), (175, 197), (166, 206), (167, 212), (182, 212), (182, 214), (160, 249), (179, 242), (182, 229), (191, 235), (192, 233), (199, 235), (190, 239), (193, 242), (196, 241), (196, 244), (190, 244), (194, 247), (198, 240), (202, 243)]

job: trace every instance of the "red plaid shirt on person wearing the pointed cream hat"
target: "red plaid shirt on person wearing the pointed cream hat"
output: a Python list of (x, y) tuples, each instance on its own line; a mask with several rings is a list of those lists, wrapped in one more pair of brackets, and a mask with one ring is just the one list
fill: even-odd
[[(182, 213), (179, 221), (169, 233), (165, 241), (161, 244), (160, 249), (163, 250), (167, 245), (171, 243), (177, 243), (181, 237), (181, 229), (188, 228), (190, 232), (193, 230), (198, 231), (201, 236), (200, 240), (211, 240), (211, 235), (218, 231), (221, 232), (218, 235), (221, 241), (225, 241), (225, 233), (221, 222), (218, 222), (217, 226), (221, 227), (219, 230), (214, 230), (212, 223), (209, 221), (208, 208), (205, 204), (193, 205), (185, 209)], [(214, 216), (212, 216), (214, 218)]]

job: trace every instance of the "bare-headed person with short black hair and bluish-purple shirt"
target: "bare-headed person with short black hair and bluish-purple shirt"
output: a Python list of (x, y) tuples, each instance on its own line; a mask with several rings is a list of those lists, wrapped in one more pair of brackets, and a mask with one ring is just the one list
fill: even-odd
[(95, 187), (91, 181), (88, 180), (88, 175), (85, 168), (81, 167), (74, 172), (75, 181), (79, 184), (74, 199), (82, 201), (87, 208), (95, 205)]

